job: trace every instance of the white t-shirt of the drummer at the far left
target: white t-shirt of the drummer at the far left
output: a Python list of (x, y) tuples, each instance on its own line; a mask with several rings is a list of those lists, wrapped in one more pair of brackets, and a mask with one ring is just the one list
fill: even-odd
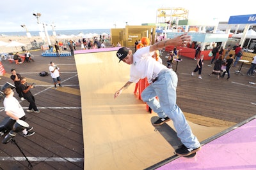
[(5, 97), (4, 98), (4, 111), (10, 111), (18, 118), (22, 118), (25, 116), (25, 112), (20, 106), (19, 101), (15, 99), (15, 97)]

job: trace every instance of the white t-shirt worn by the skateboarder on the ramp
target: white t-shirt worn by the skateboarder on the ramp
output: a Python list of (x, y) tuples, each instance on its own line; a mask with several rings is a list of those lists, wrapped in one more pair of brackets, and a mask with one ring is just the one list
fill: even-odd
[(152, 83), (159, 72), (166, 68), (166, 66), (152, 58), (154, 52), (149, 52), (149, 49), (150, 46), (146, 46), (134, 53), (129, 81), (137, 83), (141, 78), (147, 77), (148, 83)]

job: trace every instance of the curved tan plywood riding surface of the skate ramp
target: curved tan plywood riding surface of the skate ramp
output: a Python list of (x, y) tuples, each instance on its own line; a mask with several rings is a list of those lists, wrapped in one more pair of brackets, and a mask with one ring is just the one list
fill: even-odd
[[(173, 148), (154, 131), (145, 103), (133, 94), (134, 84), (114, 99), (129, 80), (129, 65), (116, 51), (75, 56), (81, 90), (84, 169), (144, 169), (173, 155)], [(190, 124), (190, 122), (189, 122)], [(200, 141), (223, 128), (192, 124)], [(174, 137), (175, 138), (175, 137)]]

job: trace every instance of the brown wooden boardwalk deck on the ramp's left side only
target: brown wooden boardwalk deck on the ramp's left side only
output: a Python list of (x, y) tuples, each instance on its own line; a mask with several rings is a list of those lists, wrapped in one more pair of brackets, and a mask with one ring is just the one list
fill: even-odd
[[(41, 111), (41, 113), (26, 113), (28, 117), (26, 122), (34, 127), (35, 135), (27, 138), (17, 135), (14, 139), (29, 157), (33, 169), (83, 169), (81, 97), (74, 57), (59, 59), (42, 57), (40, 56), (42, 51), (31, 53), (35, 56), (35, 62), (20, 65), (10, 64), (8, 60), (2, 62), (6, 74), (1, 76), (1, 85), (6, 81), (13, 83), (10, 79), (10, 70), (15, 68), (17, 73), (28, 78), (29, 83), (36, 83), (36, 87), (31, 89), (31, 92)], [(55, 90), (52, 88), (51, 75), (39, 76), (40, 71), (48, 71), (50, 61), (60, 67), (61, 81), (65, 87)], [(22, 101), (20, 104), (26, 112), (29, 103)], [(3, 99), (0, 106), (2, 120), (6, 117)], [(1, 136), (2, 139), (3, 136)], [(8, 158), (19, 160), (22, 156), (19, 148), (13, 143), (6, 145), (0, 143), (0, 169), (26, 169), (28, 167), (26, 160), (8, 161)]]

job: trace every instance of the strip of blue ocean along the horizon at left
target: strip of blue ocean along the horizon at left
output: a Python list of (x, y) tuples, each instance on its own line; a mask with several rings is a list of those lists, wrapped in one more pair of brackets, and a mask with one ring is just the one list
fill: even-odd
[[(89, 34), (89, 33), (96, 33), (96, 34), (110, 34), (110, 29), (75, 29), (75, 30), (54, 30), (58, 35), (64, 34), (64, 35), (77, 35), (79, 33), (83, 34)], [(39, 36), (39, 31), (29, 31), (31, 36)], [(48, 30), (49, 36), (52, 36), (52, 30)], [(26, 36), (26, 31), (20, 31), (20, 32), (0, 32), (1, 36)]]

